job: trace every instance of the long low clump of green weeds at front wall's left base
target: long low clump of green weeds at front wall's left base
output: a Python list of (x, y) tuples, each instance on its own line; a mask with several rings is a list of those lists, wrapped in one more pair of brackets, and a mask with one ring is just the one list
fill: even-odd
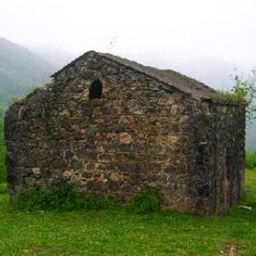
[(113, 196), (103, 196), (94, 191), (79, 193), (72, 183), (41, 189), (20, 189), (12, 198), (15, 208), (33, 212), (38, 210), (72, 211), (77, 209), (114, 209), (119, 201)]

